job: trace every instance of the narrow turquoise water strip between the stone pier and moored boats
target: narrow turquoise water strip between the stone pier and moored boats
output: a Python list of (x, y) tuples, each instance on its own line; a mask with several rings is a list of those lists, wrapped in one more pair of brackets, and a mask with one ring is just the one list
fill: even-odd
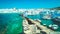
[(46, 24), (46, 25), (53, 24), (53, 22), (51, 21), (51, 19), (42, 19), (40, 15), (29, 15), (27, 17), (31, 18), (33, 20), (39, 19), (39, 20), (41, 20), (42, 24)]

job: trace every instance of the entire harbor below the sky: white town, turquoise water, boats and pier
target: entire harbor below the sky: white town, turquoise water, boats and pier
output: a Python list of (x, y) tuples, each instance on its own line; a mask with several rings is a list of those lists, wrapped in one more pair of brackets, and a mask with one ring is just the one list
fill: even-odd
[(3, 11), (0, 12), (1, 34), (57, 34), (56, 32), (60, 32), (60, 10), (13, 8), (0, 9), (0, 11)]

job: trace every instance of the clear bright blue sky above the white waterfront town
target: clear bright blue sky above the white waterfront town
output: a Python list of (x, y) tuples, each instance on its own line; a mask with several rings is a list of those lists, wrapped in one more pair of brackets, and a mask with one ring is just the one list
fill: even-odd
[(54, 8), (60, 0), (0, 0), (0, 8)]

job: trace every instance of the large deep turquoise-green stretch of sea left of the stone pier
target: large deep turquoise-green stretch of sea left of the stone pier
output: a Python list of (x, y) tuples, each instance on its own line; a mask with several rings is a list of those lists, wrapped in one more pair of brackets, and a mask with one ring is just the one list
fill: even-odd
[(23, 18), (18, 13), (0, 13), (0, 34), (19, 34), (23, 32)]

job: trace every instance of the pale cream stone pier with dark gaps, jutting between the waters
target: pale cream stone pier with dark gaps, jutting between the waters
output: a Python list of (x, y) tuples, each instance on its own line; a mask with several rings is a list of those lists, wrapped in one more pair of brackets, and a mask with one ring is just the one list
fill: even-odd
[[(54, 29), (48, 28), (46, 25), (41, 24), (41, 20), (33, 20), (24, 17), (23, 30), (25, 34), (52, 34), (55, 33)], [(57, 34), (57, 33), (55, 33)]]

